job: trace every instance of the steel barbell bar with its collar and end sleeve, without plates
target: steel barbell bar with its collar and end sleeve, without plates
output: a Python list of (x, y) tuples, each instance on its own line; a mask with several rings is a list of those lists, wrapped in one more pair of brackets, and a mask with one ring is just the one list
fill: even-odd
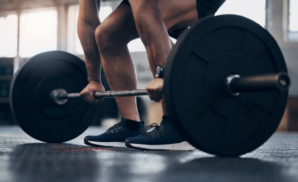
[[(290, 78), (287, 73), (265, 74), (240, 77), (229, 75), (223, 81), (224, 89), (232, 96), (238, 96), (240, 92), (258, 92), (268, 90), (287, 91), (290, 86)], [(94, 98), (113, 98), (148, 95), (146, 89), (119, 90), (94, 92)], [(64, 89), (54, 89), (50, 93), (50, 99), (56, 104), (65, 104), (67, 99), (81, 98), (79, 93), (67, 93)]]

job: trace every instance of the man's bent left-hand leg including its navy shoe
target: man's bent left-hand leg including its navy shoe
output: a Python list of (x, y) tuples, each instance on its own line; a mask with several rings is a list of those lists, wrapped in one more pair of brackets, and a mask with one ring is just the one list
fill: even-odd
[[(136, 89), (136, 71), (127, 44), (138, 37), (130, 6), (121, 3), (94, 31), (101, 63), (112, 90)], [(144, 128), (136, 97), (115, 98), (121, 121), (97, 136), (86, 136), (91, 146), (125, 147), (125, 139), (137, 136)]]

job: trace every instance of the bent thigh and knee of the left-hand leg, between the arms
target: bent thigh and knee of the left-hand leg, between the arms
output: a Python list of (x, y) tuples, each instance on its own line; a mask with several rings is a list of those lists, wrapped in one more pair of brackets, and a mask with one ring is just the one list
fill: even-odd
[(131, 8), (127, 4), (121, 3), (99, 27), (109, 37), (118, 42), (129, 43), (131, 40), (139, 37)]

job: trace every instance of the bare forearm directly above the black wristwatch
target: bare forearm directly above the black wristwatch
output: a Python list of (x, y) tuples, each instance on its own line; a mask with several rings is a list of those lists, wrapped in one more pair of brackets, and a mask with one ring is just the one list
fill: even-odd
[[(141, 3), (140, 6), (143, 4)], [(167, 27), (158, 10), (155, 1), (147, 3), (146, 7), (138, 7), (142, 12), (135, 13), (137, 31), (143, 41), (149, 56), (150, 65), (166, 66), (171, 43), (168, 37)]]

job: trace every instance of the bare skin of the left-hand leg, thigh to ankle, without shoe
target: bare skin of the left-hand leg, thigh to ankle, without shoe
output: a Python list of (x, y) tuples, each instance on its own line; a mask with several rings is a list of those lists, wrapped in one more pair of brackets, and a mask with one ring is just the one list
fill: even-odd
[[(130, 6), (120, 4), (95, 30), (106, 78), (112, 90), (136, 89), (137, 77), (127, 44), (138, 37)], [(115, 98), (121, 117), (140, 121), (136, 97)]]

